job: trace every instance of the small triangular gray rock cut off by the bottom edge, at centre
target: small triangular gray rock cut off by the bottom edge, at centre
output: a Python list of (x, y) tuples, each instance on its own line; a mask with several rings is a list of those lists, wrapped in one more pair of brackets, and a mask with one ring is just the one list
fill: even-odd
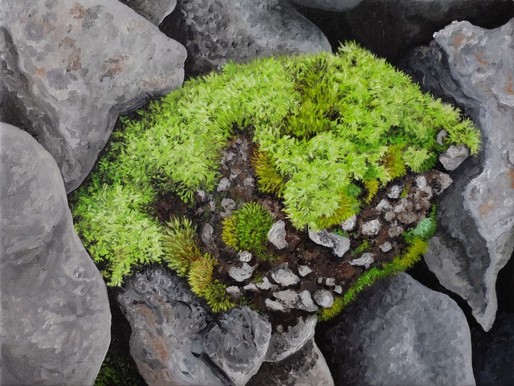
[(334, 386), (334, 380), (314, 338), (300, 351), (280, 362), (263, 363), (248, 386)]

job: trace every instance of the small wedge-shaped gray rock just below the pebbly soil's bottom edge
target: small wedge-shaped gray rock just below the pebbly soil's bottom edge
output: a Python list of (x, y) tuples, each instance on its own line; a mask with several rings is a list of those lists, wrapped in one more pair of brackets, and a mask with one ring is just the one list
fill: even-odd
[(300, 351), (309, 340), (314, 338), (317, 322), (316, 316), (308, 316), (305, 320), (299, 317), (296, 324), (289, 326), (287, 331), (272, 333), (264, 361), (280, 362)]

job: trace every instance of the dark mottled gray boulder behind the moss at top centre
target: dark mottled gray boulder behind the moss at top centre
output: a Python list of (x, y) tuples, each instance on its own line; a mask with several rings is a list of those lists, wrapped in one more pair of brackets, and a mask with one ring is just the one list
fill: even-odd
[(286, 0), (178, 0), (161, 29), (186, 46), (189, 75), (228, 60), (331, 50), (325, 35)]

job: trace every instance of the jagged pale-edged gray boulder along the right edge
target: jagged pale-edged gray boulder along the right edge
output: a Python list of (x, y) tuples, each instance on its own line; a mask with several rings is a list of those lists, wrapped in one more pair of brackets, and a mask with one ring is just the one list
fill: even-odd
[(425, 261), (486, 331), (495, 321), (497, 274), (514, 248), (513, 39), (514, 19), (493, 30), (454, 22), (403, 64), (422, 87), (463, 106), (483, 134), (480, 157), (451, 173), (454, 184), (440, 196), (441, 230)]

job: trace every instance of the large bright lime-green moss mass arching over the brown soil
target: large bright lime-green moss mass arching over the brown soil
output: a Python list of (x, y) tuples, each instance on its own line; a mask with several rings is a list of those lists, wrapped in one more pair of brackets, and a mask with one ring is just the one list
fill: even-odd
[[(259, 182), (282, 196), (299, 229), (359, 211), (370, 197), (359, 187), (365, 181), (383, 186), (406, 168), (430, 168), (451, 143), (472, 154), (480, 145), (456, 109), (354, 43), (336, 55), (227, 64), (141, 115), (123, 120), (73, 204), (78, 234), (111, 286), (132, 265), (166, 256), (165, 228), (152, 211), (157, 195), (172, 191), (189, 202), (196, 190), (214, 188), (221, 151), (238, 130), (266, 154), (268, 180)], [(444, 146), (436, 141), (441, 129), (449, 134)]]

